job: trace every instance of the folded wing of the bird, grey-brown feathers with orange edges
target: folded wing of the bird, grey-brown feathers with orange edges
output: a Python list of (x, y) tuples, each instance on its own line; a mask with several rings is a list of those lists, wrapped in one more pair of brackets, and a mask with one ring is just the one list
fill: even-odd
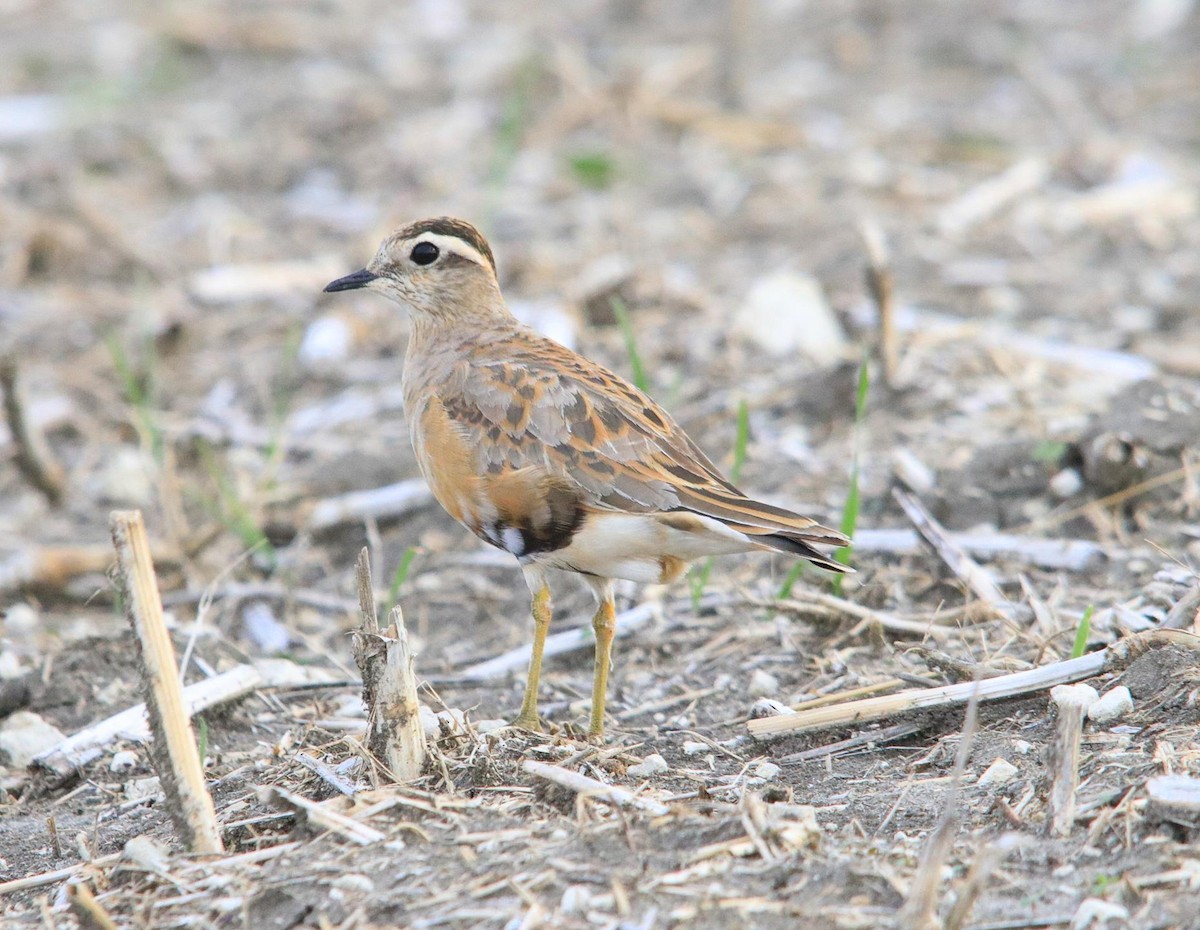
[[(439, 398), (491, 474), (545, 467), (598, 509), (689, 510), (763, 536), (844, 545), (836, 530), (746, 498), (642, 391), (532, 331), (480, 347)], [(792, 548), (781, 545), (781, 548)]]

